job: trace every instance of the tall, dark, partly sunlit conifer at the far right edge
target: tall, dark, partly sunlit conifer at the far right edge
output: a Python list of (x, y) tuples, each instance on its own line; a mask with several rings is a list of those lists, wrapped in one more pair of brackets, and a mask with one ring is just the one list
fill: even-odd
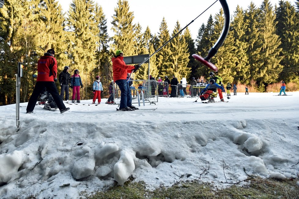
[(276, 9), (276, 22), (276, 34), (281, 39), (279, 48), (282, 48), (282, 51), (280, 56), (283, 56), (283, 59), (280, 61), (283, 70), (279, 74), (279, 79), (287, 82), (299, 82), (299, 26), (295, 8), (290, 2), (279, 2), (279, 7)]

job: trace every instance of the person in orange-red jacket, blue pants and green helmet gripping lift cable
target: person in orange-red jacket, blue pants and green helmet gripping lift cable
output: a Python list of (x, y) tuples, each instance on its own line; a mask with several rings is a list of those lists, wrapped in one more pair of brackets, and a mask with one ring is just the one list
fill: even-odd
[(137, 71), (139, 65), (126, 65), (124, 53), (121, 50), (117, 50), (115, 55), (112, 57), (113, 81), (120, 89), (120, 110), (137, 110), (138, 108), (132, 105), (132, 94), (130, 85), (127, 83), (127, 74)]

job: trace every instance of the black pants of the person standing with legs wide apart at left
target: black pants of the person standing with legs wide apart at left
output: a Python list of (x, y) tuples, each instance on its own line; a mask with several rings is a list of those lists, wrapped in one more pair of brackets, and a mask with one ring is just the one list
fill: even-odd
[(35, 84), (35, 87), (33, 89), (33, 92), (30, 96), (28, 105), (27, 105), (27, 111), (33, 111), (36, 102), (37, 102), (37, 98), (39, 97), (39, 94), (45, 89), (47, 89), (47, 91), (52, 95), (55, 103), (57, 104), (57, 107), (59, 108), (59, 110), (62, 110), (65, 108), (65, 105), (59, 95), (59, 92), (56, 88), (56, 85), (54, 83), (54, 81), (37, 81)]

